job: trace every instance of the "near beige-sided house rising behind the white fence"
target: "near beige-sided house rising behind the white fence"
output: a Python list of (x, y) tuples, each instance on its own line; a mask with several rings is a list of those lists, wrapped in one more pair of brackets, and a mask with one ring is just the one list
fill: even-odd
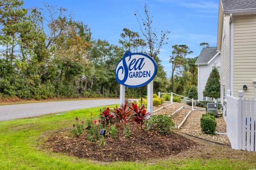
[(217, 51), (221, 52), (221, 102), (227, 93), (255, 98), (256, 1), (220, 0)]

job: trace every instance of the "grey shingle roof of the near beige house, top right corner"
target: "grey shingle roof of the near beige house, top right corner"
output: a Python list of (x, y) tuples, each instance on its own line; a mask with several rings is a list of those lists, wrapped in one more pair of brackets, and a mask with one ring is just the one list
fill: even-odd
[(256, 9), (256, 0), (221, 0), (223, 11)]

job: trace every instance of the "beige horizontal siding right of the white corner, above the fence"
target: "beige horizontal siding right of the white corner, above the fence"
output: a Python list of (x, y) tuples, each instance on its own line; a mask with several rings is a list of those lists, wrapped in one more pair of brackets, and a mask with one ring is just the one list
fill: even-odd
[(234, 17), (234, 96), (247, 85), (245, 98), (254, 98), (256, 80), (256, 15)]

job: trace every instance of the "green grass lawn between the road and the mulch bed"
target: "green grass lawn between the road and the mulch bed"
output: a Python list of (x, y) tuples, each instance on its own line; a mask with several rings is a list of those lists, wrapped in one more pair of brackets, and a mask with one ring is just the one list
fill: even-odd
[[(114, 107), (114, 106), (110, 106)], [(255, 162), (239, 159), (174, 158), (142, 162), (95, 163), (61, 153), (43, 151), (45, 134), (71, 127), (74, 118), (98, 116), (98, 108), (0, 122), (0, 169), (250, 169)], [(125, 148), (124, 148), (125, 149)]]

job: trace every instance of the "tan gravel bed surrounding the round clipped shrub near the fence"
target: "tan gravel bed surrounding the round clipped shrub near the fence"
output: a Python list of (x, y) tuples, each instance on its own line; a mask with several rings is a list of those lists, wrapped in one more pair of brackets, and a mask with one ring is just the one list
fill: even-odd
[[(205, 111), (193, 111), (189, 115), (186, 123), (183, 124), (180, 131), (186, 134), (190, 134), (196, 137), (201, 137), (203, 139), (207, 139), (210, 141), (223, 143), (223, 144), (230, 144), (228, 137), (226, 135), (208, 135), (204, 134), (201, 131), (200, 126), (200, 119), (202, 115), (205, 114)], [(226, 133), (226, 123), (222, 117), (216, 118), (217, 121), (217, 128), (216, 132)]]

